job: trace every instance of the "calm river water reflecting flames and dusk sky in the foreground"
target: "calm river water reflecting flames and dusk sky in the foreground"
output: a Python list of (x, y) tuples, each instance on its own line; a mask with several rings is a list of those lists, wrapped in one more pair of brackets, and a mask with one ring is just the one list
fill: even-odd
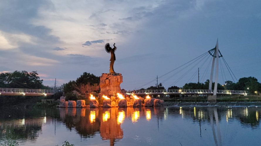
[(260, 145), (261, 107), (0, 109), (19, 145)]

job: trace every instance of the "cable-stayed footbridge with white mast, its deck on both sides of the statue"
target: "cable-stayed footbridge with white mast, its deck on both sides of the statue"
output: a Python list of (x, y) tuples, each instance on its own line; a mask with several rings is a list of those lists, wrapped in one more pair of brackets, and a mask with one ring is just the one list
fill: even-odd
[[(209, 60), (210, 59), (210, 60)], [(209, 61), (208, 61), (209, 60)], [(222, 65), (222, 61), (223, 64)], [(209, 95), (208, 100), (209, 101), (216, 101), (216, 95), (247, 95), (247, 91), (238, 91), (238, 90), (218, 90), (218, 73), (219, 73), (219, 68), (221, 71), (222, 75), (222, 80), (223, 83), (224, 79), (227, 81), (226, 74), (224, 72), (223, 67), (226, 67), (228, 69), (228, 72), (230, 76), (232, 77), (233, 82), (235, 80), (237, 81), (234, 73), (232, 72), (231, 68), (229, 67), (228, 63), (224, 59), (223, 55), (221, 54), (220, 50), (218, 49), (218, 41), (216, 42), (215, 48), (203, 53), (202, 55), (190, 60), (189, 62), (172, 69), (171, 71), (163, 74), (162, 76), (158, 77), (159, 79), (163, 79), (161, 83), (164, 83), (166, 81), (172, 81), (172, 77), (178, 77), (177, 75), (180, 73), (181, 76), (178, 77), (170, 86), (176, 85), (182, 78), (184, 78), (191, 70), (193, 70), (195, 67), (198, 67), (199, 69), (202, 69), (202, 67), (207, 63), (206, 69), (201, 77), (201, 80), (199, 80), (198, 77), (198, 83), (201, 81), (204, 81), (206, 74), (209, 70), (209, 67), (211, 65), (211, 70), (210, 70), (210, 78), (209, 78), (209, 88), (206, 90), (203, 89), (177, 89), (177, 90), (134, 90), (134, 91), (121, 91), (124, 94), (130, 94), (130, 93), (135, 93), (137, 95)], [(212, 62), (212, 63), (211, 63)], [(220, 66), (219, 66), (220, 65)], [(187, 71), (185, 69), (189, 68)], [(215, 72), (214, 72), (215, 71)], [(214, 74), (215, 73), (215, 74)], [(187, 83), (191, 82), (192, 79), (195, 78), (197, 74), (197, 71), (192, 74), (192, 76), (189, 78)], [(167, 75), (170, 75), (167, 77)], [(164, 79), (164, 77), (166, 77)], [(214, 80), (213, 80), (214, 77)], [(157, 78), (157, 79), (158, 79)], [(146, 85), (151, 84), (152, 82), (156, 81), (153, 79), (152, 81), (149, 81), (142, 86), (138, 88), (143, 88)], [(214, 82), (214, 88), (212, 89), (212, 83)], [(18, 88), (0, 88), (0, 95), (31, 95), (31, 96), (47, 96), (47, 95), (53, 95), (56, 93), (56, 90), (42, 90), (42, 89), (18, 89)]]

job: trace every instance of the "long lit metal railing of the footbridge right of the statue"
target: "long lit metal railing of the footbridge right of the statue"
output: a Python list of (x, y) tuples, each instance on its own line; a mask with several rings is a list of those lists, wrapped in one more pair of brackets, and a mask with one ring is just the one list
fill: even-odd
[[(212, 94), (213, 90), (206, 89), (171, 89), (171, 90), (123, 90), (121, 93), (135, 93), (135, 94)], [(243, 90), (217, 90), (217, 94), (247, 94)]]

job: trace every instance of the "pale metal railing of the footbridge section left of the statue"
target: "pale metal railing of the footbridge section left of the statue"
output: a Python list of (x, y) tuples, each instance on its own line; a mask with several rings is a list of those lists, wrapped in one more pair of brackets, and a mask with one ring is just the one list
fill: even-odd
[(45, 94), (54, 94), (58, 90), (47, 90), (47, 89), (23, 89), (23, 88), (0, 88), (1, 93), (45, 93)]

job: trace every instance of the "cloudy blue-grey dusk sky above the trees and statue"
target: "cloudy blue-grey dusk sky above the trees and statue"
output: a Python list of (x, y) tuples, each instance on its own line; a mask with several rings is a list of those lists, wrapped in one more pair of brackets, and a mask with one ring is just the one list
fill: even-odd
[[(121, 88), (147, 88), (157, 75), (214, 48), (218, 39), (237, 79), (261, 81), (260, 7), (259, 0), (0, 0), (0, 72), (37, 71), (48, 86), (83, 72), (101, 76), (110, 62), (104, 45), (116, 43)], [(210, 76), (211, 58), (206, 60), (158, 80), (165, 88), (197, 82), (200, 67), (204, 82)], [(223, 67), (220, 84), (233, 80)]]

